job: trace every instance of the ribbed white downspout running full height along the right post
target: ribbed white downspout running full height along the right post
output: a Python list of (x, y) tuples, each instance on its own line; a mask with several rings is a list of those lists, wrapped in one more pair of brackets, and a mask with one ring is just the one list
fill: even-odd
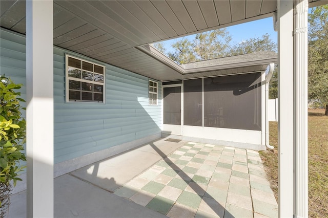
[(308, 217), (308, 1), (294, 0), (294, 122), (296, 217)]

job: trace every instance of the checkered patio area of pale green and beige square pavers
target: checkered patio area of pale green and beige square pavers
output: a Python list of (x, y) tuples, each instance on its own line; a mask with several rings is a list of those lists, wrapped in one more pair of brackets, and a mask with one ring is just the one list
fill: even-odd
[(169, 217), (277, 217), (257, 151), (188, 142), (116, 189)]

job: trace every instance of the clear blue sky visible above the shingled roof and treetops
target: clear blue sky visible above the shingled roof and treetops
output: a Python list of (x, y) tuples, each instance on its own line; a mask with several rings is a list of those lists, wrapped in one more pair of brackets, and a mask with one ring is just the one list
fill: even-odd
[[(273, 29), (273, 19), (272, 17), (259, 19), (255, 21), (251, 21), (244, 24), (234, 25), (226, 28), (231, 37), (231, 45), (236, 45), (238, 42), (242, 40), (247, 40), (249, 38), (257, 38), (262, 37), (265, 33), (270, 35), (270, 38), (273, 42), (277, 43), (277, 32)], [(192, 39), (193, 35), (186, 36), (186, 38)], [(167, 41), (162, 41), (164, 47), (167, 52), (172, 51), (171, 44), (176, 42), (178, 39), (171, 39)]]

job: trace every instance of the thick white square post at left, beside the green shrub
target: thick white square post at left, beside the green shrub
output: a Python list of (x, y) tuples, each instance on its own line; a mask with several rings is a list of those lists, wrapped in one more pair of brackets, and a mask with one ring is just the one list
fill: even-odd
[(27, 217), (53, 217), (53, 1), (26, 1)]

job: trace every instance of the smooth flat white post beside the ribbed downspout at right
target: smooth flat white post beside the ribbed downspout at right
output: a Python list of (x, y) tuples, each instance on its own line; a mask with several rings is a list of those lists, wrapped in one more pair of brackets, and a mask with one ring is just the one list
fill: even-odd
[(293, 1), (278, 1), (278, 216), (294, 212)]

